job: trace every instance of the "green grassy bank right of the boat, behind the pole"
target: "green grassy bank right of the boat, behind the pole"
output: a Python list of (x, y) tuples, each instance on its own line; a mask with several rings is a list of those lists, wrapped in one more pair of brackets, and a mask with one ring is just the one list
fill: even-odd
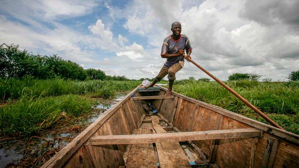
[[(299, 82), (227, 82), (232, 89), (287, 131), (299, 134)], [(177, 81), (174, 91), (267, 123), (216, 82)]]

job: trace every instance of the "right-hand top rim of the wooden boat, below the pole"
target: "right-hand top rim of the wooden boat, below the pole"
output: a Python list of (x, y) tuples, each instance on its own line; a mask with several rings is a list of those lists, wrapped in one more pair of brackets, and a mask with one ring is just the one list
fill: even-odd
[[(159, 86), (159, 87), (160, 87), (161, 90), (164, 90), (165, 92), (167, 91), (167, 88), (164, 88), (162, 86)], [(206, 109), (212, 110), (212, 111), (214, 111), (214, 112), (216, 112), (220, 115), (226, 116), (226, 117), (231, 118), (233, 120), (239, 121), (243, 124), (249, 125), (249, 126), (257, 128), (259, 130), (262, 130), (262, 131), (264, 131), (268, 134), (277, 136), (279, 138), (282, 138), (284, 140), (288, 140), (290, 142), (293, 142), (293, 143), (299, 145), (299, 135), (296, 135), (296, 134), (288, 132), (286, 130), (279, 129), (279, 128), (276, 128), (274, 126), (271, 126), (271, 125), (268, 125), (268, 124), (265, 124), (265, 123), (247, 118), (247, 117), (244, 117), (240, 114), (231, 112), (229, 110), (225, 110), (221, 107), (211, 105), (211, 104), (208, 104), (208, 103), (205, 103), (205, 102), (202, 102), (202, 101), (184, 96), (182, 94), (179, 94), (179, 93), (176, 93), (176, 92), (173, 92), (173, 91), (172, 91), (172, 94), (177, 96), (177, 97), (180, 97), (184, 100), (187, 100), (191, 103), (194, 103), (194, 104), (202, 106)]]

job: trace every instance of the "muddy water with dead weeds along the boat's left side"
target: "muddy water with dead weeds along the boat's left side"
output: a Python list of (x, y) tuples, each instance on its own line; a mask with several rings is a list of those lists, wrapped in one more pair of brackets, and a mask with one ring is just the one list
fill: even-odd
[(42, 160), (49, 159), (47, 152), (57, 152), (65, 147), (72, 139), (80, 134), (82, 129), (88, 127), (96, 121), (105, 111), (121, 99), (127, 93), (117, 95), (117, 98), (111, 101), (103, 101), (93, 107), (93, 112), (88, 117), (78, 121), (76, 125), (69, 126), (65, 130), (48, 131), (40, 137), (31, 137), (31, 139), (4, 141), (0, 143), (0, 168), (5, 167), (40, 167)]

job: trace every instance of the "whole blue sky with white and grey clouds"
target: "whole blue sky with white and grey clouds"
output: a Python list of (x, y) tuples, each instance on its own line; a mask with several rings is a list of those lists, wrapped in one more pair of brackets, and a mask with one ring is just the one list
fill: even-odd
[[(192, 59), (221, 80), (233, 73), (287, 81), (299, 70), (299, 0), (0, 0), (0, 43), (57, 54), (83, 68), (153, 78), (179, 21)], [(177, 79), (210, 78), (186, 62)], [(165, 77), (165, 79), (167, 79)]]

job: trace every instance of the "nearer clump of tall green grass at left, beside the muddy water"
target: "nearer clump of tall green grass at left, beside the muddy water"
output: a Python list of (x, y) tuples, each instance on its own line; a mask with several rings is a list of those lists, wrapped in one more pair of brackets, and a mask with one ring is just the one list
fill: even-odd
[(0, 108), (0, 134), (31, 136), (62, 118), (90, 112), (93, 103), (78, 95), (33, 98), (25, 94), (18, 101)]

